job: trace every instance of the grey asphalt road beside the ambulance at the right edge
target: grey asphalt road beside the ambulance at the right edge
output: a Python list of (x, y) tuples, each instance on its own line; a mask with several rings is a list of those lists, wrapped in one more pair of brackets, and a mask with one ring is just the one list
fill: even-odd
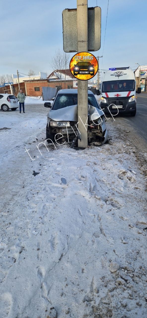
[(127, 126), (127, 128), (133, 128), (134, 134), (141, 137), (142, 141), (147, 143), (147, 93), (136, 94), (136, 96), (136, 116), (116, 116), (115, 120), (118, 124), (121, 124), (124, 127)]

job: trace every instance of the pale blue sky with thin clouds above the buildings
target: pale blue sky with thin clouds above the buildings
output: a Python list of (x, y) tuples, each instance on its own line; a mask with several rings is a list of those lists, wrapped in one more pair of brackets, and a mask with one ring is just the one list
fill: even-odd
[[(0, 75), (33, 69), (52, 71), (55, 51), (63, 50), (62, 10), (76, 8), (76, 0), (0, 0)], [(97, 0), (101, 7), (102, 55), (108, 0)], [(88, 7), (96, 0), (88, 0)], [(99, 68), (147, 64), (147, 1), (109, 0), (103, 60)], [(101, 73), (102, 74), (102, 73)]]

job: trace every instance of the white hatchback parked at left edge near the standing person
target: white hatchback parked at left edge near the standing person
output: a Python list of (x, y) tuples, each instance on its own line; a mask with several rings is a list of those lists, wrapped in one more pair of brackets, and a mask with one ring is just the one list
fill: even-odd
[(8, 112), (9, 109), (16, 110), (18, 107), (18, 100), (14, 95), (0, 93), (0, 109)]

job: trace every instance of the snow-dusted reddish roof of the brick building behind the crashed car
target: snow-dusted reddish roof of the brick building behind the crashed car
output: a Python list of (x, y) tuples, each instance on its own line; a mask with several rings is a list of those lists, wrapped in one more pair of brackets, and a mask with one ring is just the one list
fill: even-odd
[[(61, 76), (60, 76), (61, 73)], [(75, 79), (74, 75), (70, 70), (55, 70), (50, 75), (47, 76), (49, 80), (70, 80)]]

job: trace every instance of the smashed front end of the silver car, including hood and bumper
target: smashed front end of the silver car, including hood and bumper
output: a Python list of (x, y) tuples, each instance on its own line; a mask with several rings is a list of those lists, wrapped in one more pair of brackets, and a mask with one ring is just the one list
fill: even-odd
[[(78, 121), (77, 105), (50, 110), (46, 130), (55, 141), (60, 138), (60, 142), (73, 144), (73, 141), (76, 143), (81, 139)], [(61, 127), (63, 123), (64, 127)], [(102, 110), (88, 105), (88, 120), (83, 125), (88, 129), (88, 143), (97, 142), (97, 146), (101, 146), (107, 141), (108, 131)]]

